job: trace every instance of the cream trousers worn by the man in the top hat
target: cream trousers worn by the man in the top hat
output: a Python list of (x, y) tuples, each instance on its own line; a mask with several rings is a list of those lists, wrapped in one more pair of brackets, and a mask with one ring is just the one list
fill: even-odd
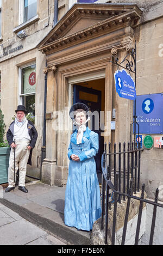
[[(16, 141), (15, 148), (15, 181), (17, 169), (19, 169), (18, 186), (24, 187), (26, 181), (27, 162), (29, 159), (30, 150), (27, 148), (29, 141)], [(8, 169), (8, 187), (15, 187), (14, 183), (14, 149), (11, 148)]]

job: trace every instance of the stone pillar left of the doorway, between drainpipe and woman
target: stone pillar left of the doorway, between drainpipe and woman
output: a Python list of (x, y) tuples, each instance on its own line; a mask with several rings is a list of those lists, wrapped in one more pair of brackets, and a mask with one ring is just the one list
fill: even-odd
[[(64, 130), (65, 93), (64, 82), (60, 86), (59, 72), (52, 65), (44, 69), (47, 72), (47, 109), (46, 109), (46, 158), (42, 163), (42, 182), (48, 185), (62, 186), (67, 182), (67, 132)], [(67, 117), (67, 114), (66, 114)], [(62, 122), (63, 120), (63, 122)], [(61, 123), (60, 123), (61, 122)], [(60, 125), (60, 126), (59, 126)]]

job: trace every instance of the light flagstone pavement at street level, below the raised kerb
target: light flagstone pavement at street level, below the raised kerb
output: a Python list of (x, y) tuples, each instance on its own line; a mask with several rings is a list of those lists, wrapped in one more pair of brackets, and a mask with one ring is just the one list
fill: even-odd
[(0, 203), (0, 245), (66, 245)]

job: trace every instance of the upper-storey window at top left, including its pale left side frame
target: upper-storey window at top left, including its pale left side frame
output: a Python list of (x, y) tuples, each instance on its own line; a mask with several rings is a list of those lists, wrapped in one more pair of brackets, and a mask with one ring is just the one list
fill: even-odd
[(37, 15), (37, 0), (20, 0), (19, 24), (26, 22)]

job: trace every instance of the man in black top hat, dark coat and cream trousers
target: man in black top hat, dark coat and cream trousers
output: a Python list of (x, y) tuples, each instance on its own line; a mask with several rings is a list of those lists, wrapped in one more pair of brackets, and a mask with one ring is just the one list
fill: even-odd
[[(26, 119), (27, 110), (23, 105), (17, 106), (16, 118), (7, 131), (7, 140), (11, 147), (8, 169), (9, 185), (5, 192), (10, 192), (15, 188), (14, 182), (14, 162), (15, 173), (19, 169), (18, 189), (27, 193), (25, 187), (27, 163), (32, 165), (32, 149), (35, 147), (37, 140), (37, 131), (34, 124)], [(15, 150), (15, 157), (14, 157)]]

